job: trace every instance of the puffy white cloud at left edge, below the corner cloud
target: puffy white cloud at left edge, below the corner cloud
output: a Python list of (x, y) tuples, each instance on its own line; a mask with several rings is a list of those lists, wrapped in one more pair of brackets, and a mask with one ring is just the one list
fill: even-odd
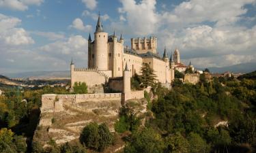
[(17, 28), (21, 20), (0, 14), (0, 43), (5, 45), (33, 44), (33, 39), (23, 28)]

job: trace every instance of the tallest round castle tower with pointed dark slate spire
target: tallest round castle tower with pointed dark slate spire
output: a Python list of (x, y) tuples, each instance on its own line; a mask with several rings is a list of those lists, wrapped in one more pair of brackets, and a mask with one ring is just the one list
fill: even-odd
[(108, 70), (108, 33), (105, 33), (100, 21), (100, 14), (94, 33), (94, 67), (98, 70)]

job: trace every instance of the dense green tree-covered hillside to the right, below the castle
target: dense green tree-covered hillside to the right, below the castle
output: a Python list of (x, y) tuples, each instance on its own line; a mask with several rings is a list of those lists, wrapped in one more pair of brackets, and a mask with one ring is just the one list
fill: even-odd
[(152, 103), (154, 119), (132, 131), (124, 152), (253, 152), (255, 91), (255, 80), (175, 80), (169, 92), (156, 89), (162, 96)]

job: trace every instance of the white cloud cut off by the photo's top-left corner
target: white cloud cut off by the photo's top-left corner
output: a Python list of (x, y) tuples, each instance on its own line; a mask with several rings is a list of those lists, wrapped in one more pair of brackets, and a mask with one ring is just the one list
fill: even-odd
[(44, 0), (0, 0), (0, 7), (11, 10), (25, 11), (29, 5), (40, 5)]

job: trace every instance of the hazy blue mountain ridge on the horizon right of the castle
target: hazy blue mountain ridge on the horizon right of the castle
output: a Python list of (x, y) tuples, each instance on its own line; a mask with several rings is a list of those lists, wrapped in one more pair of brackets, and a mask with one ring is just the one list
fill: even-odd
[[(230, 71), (232, 73), (249, 73), (256, 70), (256, 63), (242, 63), (231, 65), (228, 67), (207, 67), (211, 73), (224, 73)], [(203, 69), (202, 69), (203, 70)]]

